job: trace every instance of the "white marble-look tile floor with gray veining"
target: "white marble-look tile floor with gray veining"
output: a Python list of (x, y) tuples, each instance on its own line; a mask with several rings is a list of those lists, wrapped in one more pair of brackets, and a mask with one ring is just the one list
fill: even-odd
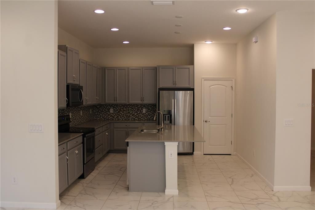
[[(315, 191), (272, 191), (235, 155), (179, 156), (179, 195), (129, 192), (126, 157), (108, 154), (99, 160), (86, 179), (60, 195), (58, 209), (315, 209)], [(315, 173), (314, 190), (312, 182)]]

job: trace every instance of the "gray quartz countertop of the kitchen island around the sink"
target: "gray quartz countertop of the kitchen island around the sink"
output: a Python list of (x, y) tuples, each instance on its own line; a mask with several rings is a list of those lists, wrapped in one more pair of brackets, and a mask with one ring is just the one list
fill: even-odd
[(155, 126), (141, 126), (126, 142), (205, 142), (194, 125), (164, 125), (164, 131), (158, 133), (139, 133), (141, 129), (154, 129)]

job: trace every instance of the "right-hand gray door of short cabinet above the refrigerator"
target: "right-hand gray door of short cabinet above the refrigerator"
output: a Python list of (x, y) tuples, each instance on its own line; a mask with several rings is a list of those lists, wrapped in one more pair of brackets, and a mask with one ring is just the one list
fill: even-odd
[(192, 67), (175, 67), (175, 86), (192, 87), (193, 84)]

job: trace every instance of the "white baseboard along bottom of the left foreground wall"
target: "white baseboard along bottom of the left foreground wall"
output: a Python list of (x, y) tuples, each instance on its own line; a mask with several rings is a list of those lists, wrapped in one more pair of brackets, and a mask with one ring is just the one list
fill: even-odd
[(36, 202), (11, 202), (1, 201), (1, 207), (11, 208), (45, 208), (45, 209), (57, 209), (60, 206), (60, 201), (57, 203), (36, 203)]

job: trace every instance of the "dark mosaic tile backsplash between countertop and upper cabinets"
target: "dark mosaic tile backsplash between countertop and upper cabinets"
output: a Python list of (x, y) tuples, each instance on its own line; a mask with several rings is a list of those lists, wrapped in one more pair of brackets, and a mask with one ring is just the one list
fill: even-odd
[[(113, 112), (110, 113), (110, 108)], [(143, 113), (143, 109), (146, 113)], [(81, 116), (82, 111), (82, 116)], [(156, 104), (98, 104), (92, 106), (68, 107), (58, 110), (58, 116), (71, 112), (71, 126), (98, 120), (153, 120), (156, 112)]]

